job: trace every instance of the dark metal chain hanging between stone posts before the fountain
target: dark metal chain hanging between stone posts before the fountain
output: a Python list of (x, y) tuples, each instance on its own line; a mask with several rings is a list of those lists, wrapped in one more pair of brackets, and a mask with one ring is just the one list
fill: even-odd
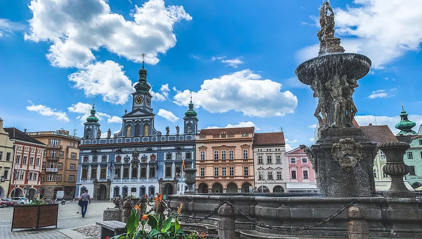
[[(182, 218), (179, 218), (179, 221), (181, 221), (181, 222), (184, 222), (184, 223), (199, 223), (199, 222), (202, 222), (202, 221), (204, 221), (204, 220), (206, 220), (206, 219), (208, 219), (208, 218), (210, 218), (214, 213), (216, 213), (217, 211), (218, 211), (218, 209), (222, 206), (222, 205), (224, 205), (224, 204), (227, 204), (228, 206), (230, 206), (230, 207), (232, 207), (234, 210), (236, 210), (240, 215), (242, 215), (242, 216), (244, 216), (244, 217), (246, 217), (249, 221), (251, 221), (251, 222), (253, 222), (255, 225), (257, 225), (257, 226), (260, 226), (260, 227), (263, 227), (263, 228), (267, 228), (267, 229), (271, 229), (271, 230), (277, 230), (277, 231), (279, 231), (279, 232), (300, 232), (300, 231), (304, 231), (304, 230), (309, 230), (309, 229), (312, 229), (312, 228), (317, 228), (318, 226), (320, 226), (320, 225), (322, 225), (322, 224), (325, 224), (326, 222), (328, 222), (328, 221), (330, 221), (331, 219), (333, 219), (333, 218), (335, 218), (335, 217), (337, 217), (339, 214), (341, 214), (344, 210), (346, 210), (346, 209), (348, 209), (350, 206), (352, 206), (352, 205), (354, 205), (354, 204), (356, 204), (357, 203), (357, 199), (356, 198), (353, 198), (352, 199), (352, 201), (350, 202), (350, 203), (348, 203), (348, 204), (345, 204), (344, 206), (343, 206), (343, 208), (341, 208), (341, 209), (338, 209), (337, 211), (336, 211), (336, 213), (335, 214), (333, 214), (333, 215), (329, 215), (328, 216), (328, 218), (326, 218), (326, 219), (322, 219), (319, 223), (313, 223), (313, 225), (312, 226), (308, 226), (308, 225), (305, 225), (305, 226), (303, 226), (303, 227), (296, 227), (296, 228), (283, 228), (283, 227), (278, 227), (278, 226), (273, 226), (273, 225), (266, 225), (266, 224), (264, 224), (264, 223), (262, 223), (262, 222), (258, 222), (258, 220), (256, 220), (255, 218), (251, 218), (250, 216), (249, 216), (249, 214), (247, 214), (247, 213), (244, 213), (240, 208), (238, 208), (238, 207), (236, 207), (236, 205), (234, 205), (233, 203), (230, 203), (228, 200), (225, 200), (224, 202), (222, 202), (222, 203), (220, 203), (220, 204), (218, 204), (218, 206), (211, 212), (211, 214), (209, 214), (209, 215), (206, 215), (205, 217), (203, 217), (203, 218), (200, 218), (200, 219), (196, 219), (196, 220), (192, 220), (192, 219), (182, 219)], [(169, 213), (169, 214), (171, 214), (171, 215), (173, 215), (173, 216), (179, 216), (179, 214), (177, 214), (177, 213), (173, 213), (172, 211), (171, 211), (171, 209), (167, 206), (167, 203), (166, 202), (164, 202), (163, 201), (163, 205), (164, 205), (164, 207), (166, 208), (166, 210), (167, 210), (167, 212)]]

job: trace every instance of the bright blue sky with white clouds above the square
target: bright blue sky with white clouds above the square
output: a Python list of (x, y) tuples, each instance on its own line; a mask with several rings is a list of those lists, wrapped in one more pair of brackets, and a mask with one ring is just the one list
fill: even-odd
[[(316, 100), (295, 69), (317, 55), (322, 1), (0, 1), (0, 117), (28, 131), (78, 128), (95, 98), (118, 131), (145, 53), (155, 127), (183, 125), (190, 92), (200, 128), (283, 127), (312, 144)], [(354, 94), (356, 119), (391, 128), (401, 102), (422, 123), (422, 1), (335, 0), (346, 52), (373, 67)], [(392, 128), (394, 132), (394, 128)], [(417, 129), (416, 129), (417, 130)]]

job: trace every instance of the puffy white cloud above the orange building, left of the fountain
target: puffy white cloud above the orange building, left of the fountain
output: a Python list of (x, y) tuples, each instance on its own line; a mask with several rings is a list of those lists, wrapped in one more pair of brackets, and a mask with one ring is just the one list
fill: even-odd
[[(242, 70), (205, 80), (201, 90), (192, 92), (196, 107), (211, 113), (242, 112), (245, 116), (274, 117), (294, 113), (298, 99), (290, 91), (281, 92), (282, 85), (251, 70)], [(176, 90), (177, 91), (177, 90)], [(190, 90), (177, 91), (174, 103), (188, 106)]]

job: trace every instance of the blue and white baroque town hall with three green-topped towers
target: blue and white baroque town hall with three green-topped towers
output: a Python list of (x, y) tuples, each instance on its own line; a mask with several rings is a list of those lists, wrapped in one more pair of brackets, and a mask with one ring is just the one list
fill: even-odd
[[(122, 116), (122, 128), (111, 137), (101, 138), (96, 110), (84, 123), (80, 149), (77, 196), (88, 190), (93, 199), (133, 195), (140, 197), (160, 193), (183, 194), (183, 160), (186, 167), (195, 167), (195, 134), (198, 130), (194, 104), (185, 113), (183, 131), (161, 133), (154, 127), (155, 114), (151, 107), (151, 86), (142, 61), (139, 81), (132, 93), (132, 109)], [(106, 130), (106, 129), (103, 129)]]

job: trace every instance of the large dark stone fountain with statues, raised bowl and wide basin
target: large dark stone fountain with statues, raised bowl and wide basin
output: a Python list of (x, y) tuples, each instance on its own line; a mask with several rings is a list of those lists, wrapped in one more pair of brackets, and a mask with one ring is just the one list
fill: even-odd
[[(314, 97), (318, 98), (314, 114), (320, 125), (318, 140), (311, 147), (301, 147), (315, 168), (320, 197), (293, 197), (289, 194), (277, 197), (171, 195), (168, 205), (175, 210), (183, 203), (183, 216), (201, 219), (209, 215), (219, 203), (229, 200), (242, 212), (257, 220), (257, 223), (252, 222), (234, 211), (237, 236), (243, 239), (345, 239), (348, 236), (420, 239), (422, 199), (416, 198), (403, 184), (403, 176), (409, 172), (403, 163), (403, 154), (409, 145), (402, 142), (378, 145), (386, 153), (387, 165), (384, 172), (392, 176), (392, 186), (383, 197), (377, 196), (373, 176), (377, 144), (371, 142), (362, 130), (353, 124), (357, 113), (353, 93), (358, 87), (357, 81), (368, 74), (371, 60), (361, 54), (344, 52), (340, 39), (334, 36), (334, 12), (329, 2), (322, 5), (319, 22), (321, 29), (317, 33), (320, 41), (318, 56), (302, 63), (296, 69), (296, 75), (302, 83), (311, 86)], [(357, 198), (359, 206), (350, 208), (353, 210), (347, 211), (347, 217), (346, 213), (342, 213), (317, 228), (309, 229), (314, 223), (335, 214), (353, 198)], [(228, 230), (228, 226), (223, 227), (225, 225), (221, 225), (221, 222), (226, 222), (228, 217), (233, 220), (233, 216), (231, 210), (224, 212), (218, 212), (219, 216), (207, 216), (206, 220), (197, 224), (198, 227), (210, 231), (212, 225), (217, 225), (220, 221), (218, 229)], [(355, 221), (349, 222), (349, 219)], [(305, 230), (276, 231), (269, 230), (264, 225)], [(366, 236), (356, 236), (359, 233), (348, 234), (348, 225), (354, 225), (357, 231), (360, 230), (360, 236)], [(365, 228), (359, 228), (363, 227), (362, 225)], [(216, 226), (213, 230), (215, 229)]]

